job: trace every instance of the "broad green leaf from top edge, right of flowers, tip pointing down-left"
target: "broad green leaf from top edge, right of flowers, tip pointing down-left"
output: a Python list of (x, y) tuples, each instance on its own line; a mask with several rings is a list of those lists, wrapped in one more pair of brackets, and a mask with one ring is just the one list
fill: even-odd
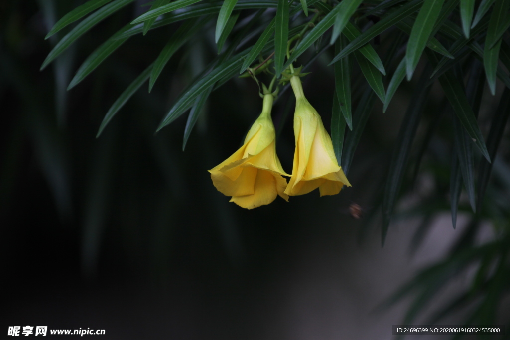
[(421, 54), (427, 45), (444, 0), (425, 0), (418, 13), (405, 51), (407, 80), (411, 80)]

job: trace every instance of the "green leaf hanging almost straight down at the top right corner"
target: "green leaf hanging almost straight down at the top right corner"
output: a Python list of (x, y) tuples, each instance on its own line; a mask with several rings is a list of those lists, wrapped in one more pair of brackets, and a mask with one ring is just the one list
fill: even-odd
[(498, 67), (499, 47), (501, 46), (501, 38), (497, 37), (497, 31), (503, 25), (502, 22), (509, 5), (509, 0), (496, 0), (487, 29), (487, 37), (485, 38), (483, 67), (492, 95), (496, 93), (496, 69)]

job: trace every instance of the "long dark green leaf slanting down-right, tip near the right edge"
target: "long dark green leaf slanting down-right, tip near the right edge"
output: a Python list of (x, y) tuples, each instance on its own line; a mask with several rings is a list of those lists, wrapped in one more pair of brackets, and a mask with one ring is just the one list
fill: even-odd
[[(429, 53), (428, 57), (432, 65), (437, 64), (436, 56)], [(487, 152), (487, 147), (483, 142), (483, 136), (481, 135), (480, 128), (478, 127), (475, 115), (471, 109), (461, 83), (456, 79), (451, 70), (446, 71), (443, 75), (441, 75), (439, 77), (439, 82), (446, 94), (446, 97), (450, 101), (451, 106), (453, 107), (453, 111), (455, 111), (458, 119), (468, 132), (469, 137), (471, 137), (473, 142), (475, 142), (481, 154), (487, 159), (487, 161), (491, 162), (489, 153)]]

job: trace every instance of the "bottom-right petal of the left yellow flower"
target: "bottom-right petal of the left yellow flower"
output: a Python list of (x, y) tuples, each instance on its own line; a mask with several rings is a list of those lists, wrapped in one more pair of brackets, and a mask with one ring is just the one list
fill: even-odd
[(274, 201), (277, 196), (276, 179), (273, 174), (265, 170), (259, 170), (256, 168), (251, 169), (257, 171), (253, 194), (244, 196), (234, 195), (230, 200), (231, 202), (247, 209), (269, 204)]

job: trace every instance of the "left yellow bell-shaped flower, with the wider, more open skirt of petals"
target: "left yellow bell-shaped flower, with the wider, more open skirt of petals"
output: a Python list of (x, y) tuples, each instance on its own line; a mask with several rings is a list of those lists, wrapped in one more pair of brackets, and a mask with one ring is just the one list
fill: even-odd
[(269, 204), (277, 195), (286, 201), (286, 174), (276, 156), (276, 134), (271, 120), (273, 96), (264, 95), (262, 113), (251, 126), (244, 145), (224, 162), (209, 170), (219, 192), (231, 202), (252, 209)]

